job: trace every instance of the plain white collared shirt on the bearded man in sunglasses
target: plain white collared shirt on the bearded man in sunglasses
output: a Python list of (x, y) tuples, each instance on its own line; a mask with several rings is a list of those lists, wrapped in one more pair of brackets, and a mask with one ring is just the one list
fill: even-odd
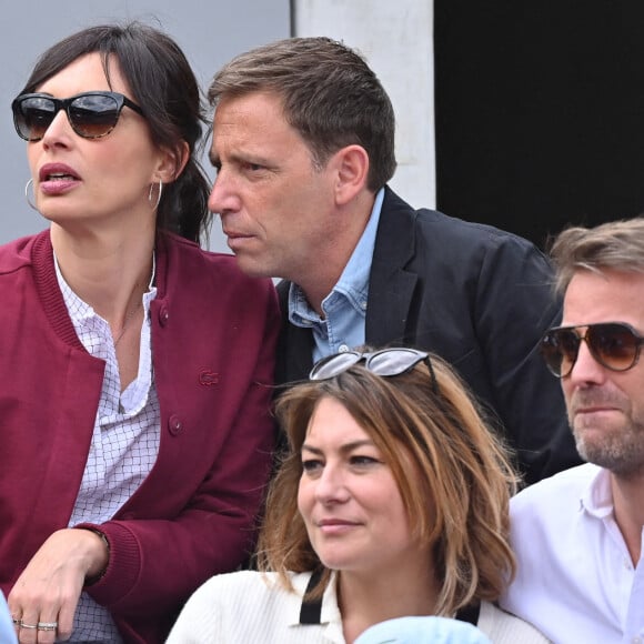
[(517, 576), (501, 605), (555, 644), (644, 643), (644, 564), (614, 519), (610, 473), (585, 464), (511, 502)]

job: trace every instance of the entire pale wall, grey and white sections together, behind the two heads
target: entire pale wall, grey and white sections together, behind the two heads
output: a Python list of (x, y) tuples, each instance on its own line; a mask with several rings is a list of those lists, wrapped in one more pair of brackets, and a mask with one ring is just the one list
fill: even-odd
[[(183, 48), (205, 88), (214, 71), (234, 54), (288, 37), (291, 4), (299, 36), (330, 36), (369, 59), (396, 112), (399, 170), (392, 187), (416, 207), (433, 207), (433, 10), (429, 0), (6, 1), (0, 38), (0, 243), (47, 225), (24, 201), (29, 178), (26, 143), (13, 130), (10, 111), (12, 99), (44, 49), (98, 22), (157, 21)], [(211, 246), (228, 250), (219, 222), (213, 225)]]

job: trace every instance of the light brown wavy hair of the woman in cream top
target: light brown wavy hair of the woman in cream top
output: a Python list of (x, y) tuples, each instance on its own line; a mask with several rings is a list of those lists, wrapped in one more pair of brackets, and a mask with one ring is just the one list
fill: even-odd
[[(270, 487), (258, 565), (289, 572), (322, 568), (298, 511), (301, 447), (318, 403), (340, 402), (373, 440), (398, 483), (411, 530), (434, 553), (441, 593), (437, 615), (495, 601), (515, 571), (509, 544), (509, 502), (517, 476), (509, 452), (455, 372), (432, 355), (427, 365), (383, 378), (358, 363), (329, 380), (286, 391), (275, 412), (289, 440)], [(414, 464), (410, 467), (410, 461)], [(320, 597), (331, 571), (308, 595)]]

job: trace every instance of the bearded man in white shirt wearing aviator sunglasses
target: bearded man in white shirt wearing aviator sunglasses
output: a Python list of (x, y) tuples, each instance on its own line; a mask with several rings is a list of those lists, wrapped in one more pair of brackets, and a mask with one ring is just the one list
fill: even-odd
[(562, 326), (542, 340), (586, 464), (511, 502), (502, 605), (557, 644), (644, 641), (644, 219), (562, 232)]

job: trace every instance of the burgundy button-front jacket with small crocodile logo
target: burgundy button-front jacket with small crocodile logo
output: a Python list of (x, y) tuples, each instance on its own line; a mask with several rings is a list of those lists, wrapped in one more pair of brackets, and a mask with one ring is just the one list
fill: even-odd
[[(170, 234), (157, 243), (152, 362), (161, 441), (150, 475), (100, 526), (105, 575), (88, 588), (125, 642), (163, 642), (182, 603), (248, 554), (270, 469), (279, 326), (269, 280)], [(0, 586), (66, 527), (104, 363), (78, 340), (49, 231), (0, 246)]]

